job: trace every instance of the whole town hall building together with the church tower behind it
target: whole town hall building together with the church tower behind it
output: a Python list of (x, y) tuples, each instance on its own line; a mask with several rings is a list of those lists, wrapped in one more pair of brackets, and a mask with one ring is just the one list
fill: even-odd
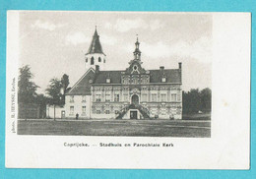
[(182, 66), (146, 70), (140, 42), (123, 71), (105, 71), (106, 55), (95, 31), (86, 54), (86, 73), (65, 95), (65, 116), (75, 118), (181, 119)]

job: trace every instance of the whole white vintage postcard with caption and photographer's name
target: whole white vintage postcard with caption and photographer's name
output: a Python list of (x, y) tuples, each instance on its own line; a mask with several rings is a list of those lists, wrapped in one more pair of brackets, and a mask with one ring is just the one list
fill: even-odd
[(6, 167), (249, 169), (249, 13), (7, 23)]

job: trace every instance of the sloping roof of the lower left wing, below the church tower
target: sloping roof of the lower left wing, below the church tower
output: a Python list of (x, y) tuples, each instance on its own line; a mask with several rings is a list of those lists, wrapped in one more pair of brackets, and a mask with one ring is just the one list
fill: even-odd
[(66, 95), (91, 95), (90, 80), (94, 80), (95, 71), (89, 69), (84, 76), (70, 89)]

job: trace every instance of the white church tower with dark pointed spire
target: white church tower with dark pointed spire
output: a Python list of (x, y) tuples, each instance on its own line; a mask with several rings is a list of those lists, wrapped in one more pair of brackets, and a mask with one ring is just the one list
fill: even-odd
[(98, 66), (100, 70), (104, 70), (105, 57), (106, 55), (103, 53), (99, 41), (99, 35), (97, 31), (95, 31), (91, 45), (86, 53), (86, 71), (91, 67), (96, 70), (96, 66)]

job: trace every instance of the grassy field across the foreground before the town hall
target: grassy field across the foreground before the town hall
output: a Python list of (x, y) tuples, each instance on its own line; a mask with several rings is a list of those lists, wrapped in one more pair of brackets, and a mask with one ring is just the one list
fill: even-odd
[(209, 120), (19, 120), (19, 135), (210, 138)]

